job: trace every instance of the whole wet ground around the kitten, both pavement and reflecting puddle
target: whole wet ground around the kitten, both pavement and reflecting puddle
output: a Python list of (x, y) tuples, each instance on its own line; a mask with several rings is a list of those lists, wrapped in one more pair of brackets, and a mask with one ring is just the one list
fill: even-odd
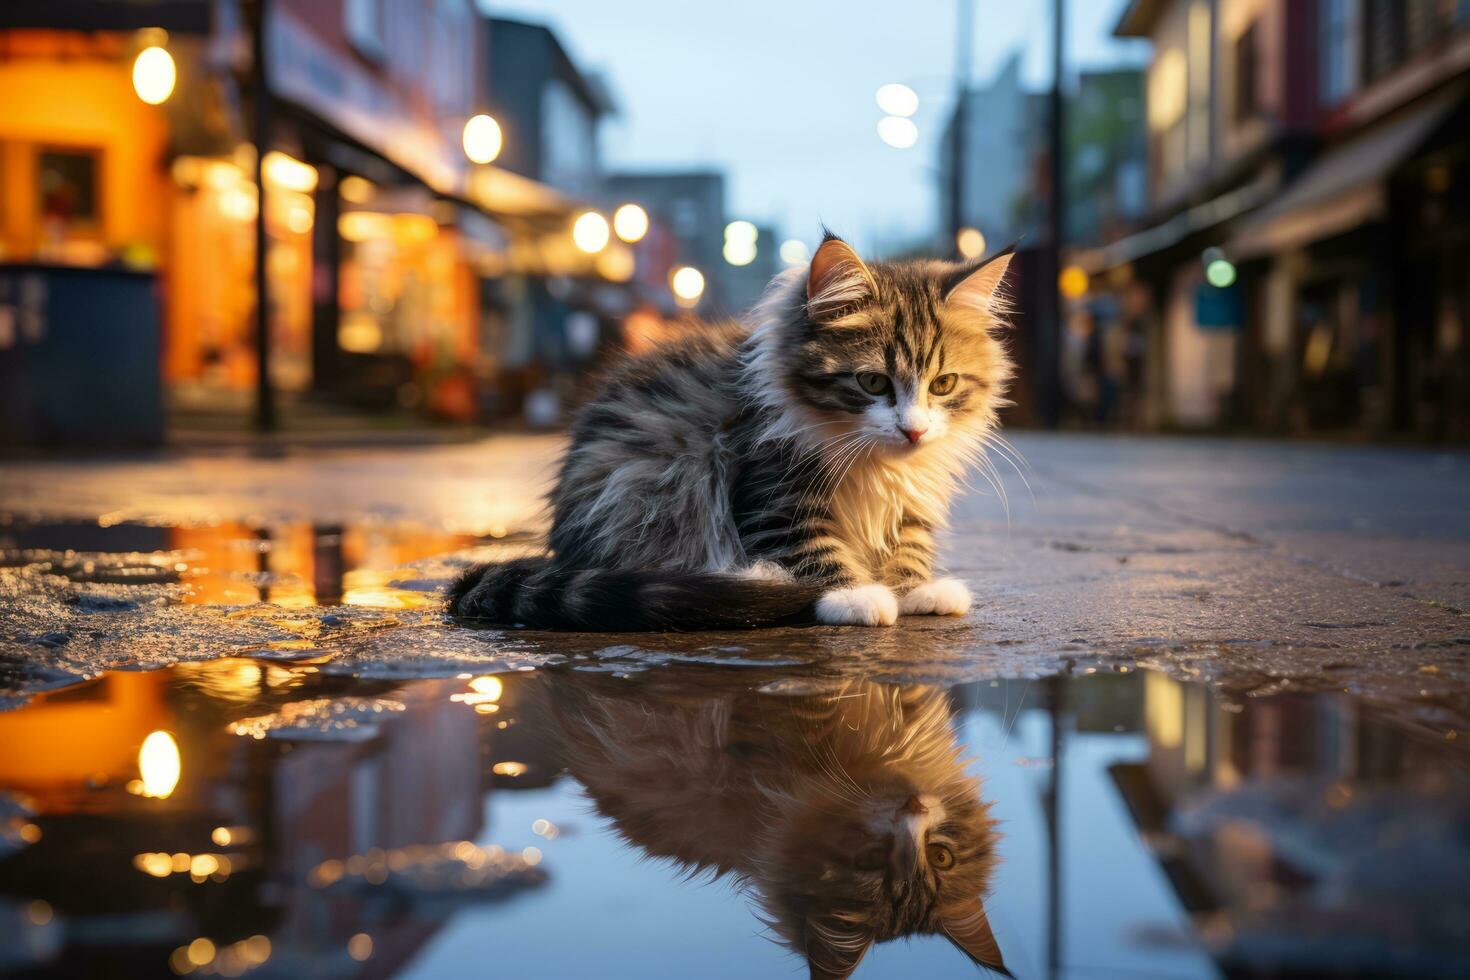
[(910, 795), (1017, 977), (1470, 973), (1470, 458), (1016, 444), (966, 620), (725, 635), (444, 620), (554, 439), (4, 467), (0, 973), (788, 976)]

